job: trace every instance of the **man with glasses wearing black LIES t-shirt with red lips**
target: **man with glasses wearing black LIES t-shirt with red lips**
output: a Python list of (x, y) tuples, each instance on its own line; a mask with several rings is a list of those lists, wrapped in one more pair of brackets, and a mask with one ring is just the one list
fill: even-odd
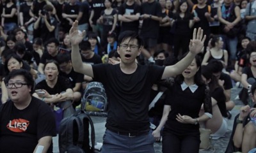
[(54, 115), (46, 103), (31, 96), (32, 75), (17, 69), (4, 81), (10, 100), (0, 106), (0, 152), (52, 152)]

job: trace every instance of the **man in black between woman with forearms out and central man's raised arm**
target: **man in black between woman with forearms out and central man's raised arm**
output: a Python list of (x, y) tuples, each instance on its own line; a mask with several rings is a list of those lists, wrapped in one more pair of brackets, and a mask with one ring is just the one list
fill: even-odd
[(84, 75), (74, 71), (72, 67), (72, 62), (70, 54), (63, 53), (57, 55), (57, 61), (60, 64), (60, 76), (66, 77), (70, 80), (73, 93), (74, 93), (74, 103), (73, 106), (76, 108), (81, 103), (82, 97), (82, 82)]

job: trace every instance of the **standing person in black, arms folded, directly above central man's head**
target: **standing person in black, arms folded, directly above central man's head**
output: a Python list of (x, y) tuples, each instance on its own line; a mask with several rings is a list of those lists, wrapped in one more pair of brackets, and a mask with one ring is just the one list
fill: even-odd
[(134, 0), (127, 0), (118, 8), (118, 20), (122, 21), (120, 33), (124, 31), (139, 32), (140, 5)]

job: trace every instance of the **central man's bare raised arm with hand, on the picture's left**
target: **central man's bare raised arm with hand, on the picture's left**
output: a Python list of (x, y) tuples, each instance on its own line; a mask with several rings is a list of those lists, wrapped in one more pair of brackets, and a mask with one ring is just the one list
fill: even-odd
[(79, 43), (83, 40), (85, 36), (85, 31), (79, 33), (77, 27), (78, 21), (76, 20), (69, 31), (70, 42), (72, 47), (72, 66), (74, 68), (74, 71), (83, 73), (84, 75), (88, 75), (93, 78), (92, 65), (84, 64), (81, 59), (81, 54), (79, 53)]

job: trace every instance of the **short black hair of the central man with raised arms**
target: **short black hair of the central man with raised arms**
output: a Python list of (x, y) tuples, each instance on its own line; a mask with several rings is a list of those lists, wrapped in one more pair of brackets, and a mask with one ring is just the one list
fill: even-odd
[(134, 31), (124, 31), (120, 33), (120, 35), (118, 36), (118, 46), (128, 38), (130, 38), (130, 41), (138, 40), (139, 47), (143, 46), (143, 40), (140, 38), (139, 34)]

